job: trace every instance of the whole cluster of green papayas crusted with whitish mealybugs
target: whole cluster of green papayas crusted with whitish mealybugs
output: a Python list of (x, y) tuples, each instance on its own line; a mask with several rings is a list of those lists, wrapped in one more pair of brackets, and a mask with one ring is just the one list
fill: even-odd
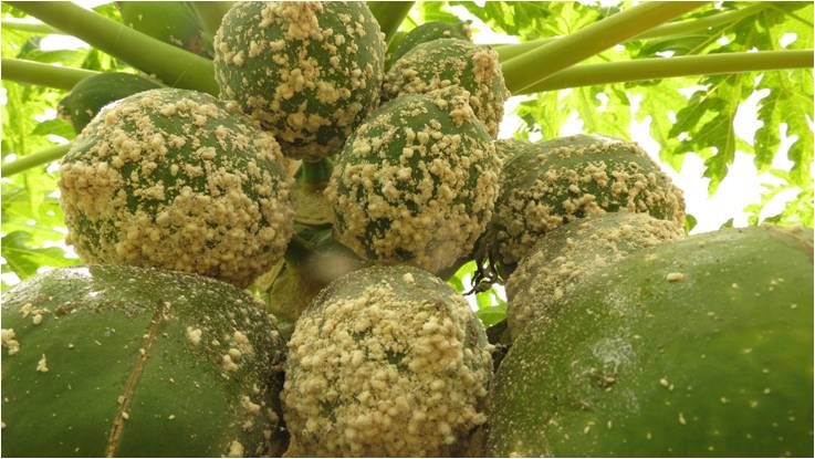
[[(219, 98), (62, 103), (87, 268), (4, 295), (3, 455), (812, 452), (807, 231), (686, 237), (636, 144), (497, 140), (462, 24), (387, 51), (363, 2), (240, 2), (207, 43)], [(442, 280), (467, 260), (506, 284), (489, 330)]]

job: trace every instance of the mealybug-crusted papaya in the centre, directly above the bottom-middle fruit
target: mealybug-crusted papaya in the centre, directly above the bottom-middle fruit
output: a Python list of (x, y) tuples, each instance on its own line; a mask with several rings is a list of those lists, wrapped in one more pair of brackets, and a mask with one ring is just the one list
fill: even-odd
[(439, 273), (492, 216), (500, 163), (458, 86), (383, 104), (346, 142), (325, 190), (334, 237), (358, 257)]

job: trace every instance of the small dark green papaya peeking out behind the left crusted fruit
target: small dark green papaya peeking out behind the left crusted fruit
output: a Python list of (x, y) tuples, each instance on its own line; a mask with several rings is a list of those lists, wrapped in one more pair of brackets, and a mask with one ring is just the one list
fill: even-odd
[(76, 83), (60, 101), (60, 116), (70, 121), (74, 131), (80, 133), (105, 105), (157, 87), (161, 87), (161, 84), (129, 73), (105, 72), (92, 75)]

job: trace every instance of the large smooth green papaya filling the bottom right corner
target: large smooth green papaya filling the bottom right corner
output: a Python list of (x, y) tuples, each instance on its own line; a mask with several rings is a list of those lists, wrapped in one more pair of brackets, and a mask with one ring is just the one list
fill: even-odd
[(808, 231), (644, 249), (530, 323), (497, 374), (490, 456), (808, 456)]

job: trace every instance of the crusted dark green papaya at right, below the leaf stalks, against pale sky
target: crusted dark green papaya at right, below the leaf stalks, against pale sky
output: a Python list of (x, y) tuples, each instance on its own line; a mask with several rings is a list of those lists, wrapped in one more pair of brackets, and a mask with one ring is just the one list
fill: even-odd
[(578, 218), (627, 210), (682, 225), (685, 201), (637, 145), (598, 135), (499, 145), (501, 194), (478, 258), (505, 279), (546, 232)]

